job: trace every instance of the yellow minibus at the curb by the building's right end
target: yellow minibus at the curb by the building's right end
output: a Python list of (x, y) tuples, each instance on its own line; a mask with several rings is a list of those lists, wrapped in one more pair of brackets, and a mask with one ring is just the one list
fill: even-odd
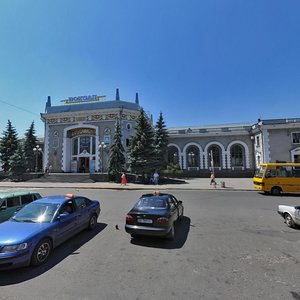
[(300, 163), (260, 164), (253, 177), (254, 188), (265, 193), (300, 193)]

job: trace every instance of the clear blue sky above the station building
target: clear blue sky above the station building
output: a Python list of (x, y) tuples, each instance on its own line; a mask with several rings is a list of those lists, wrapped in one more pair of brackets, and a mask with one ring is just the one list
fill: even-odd
[(116, 88), (168, 127), (300, 117), (299, 0), (1, 0), (0, 37), (1, 133)]

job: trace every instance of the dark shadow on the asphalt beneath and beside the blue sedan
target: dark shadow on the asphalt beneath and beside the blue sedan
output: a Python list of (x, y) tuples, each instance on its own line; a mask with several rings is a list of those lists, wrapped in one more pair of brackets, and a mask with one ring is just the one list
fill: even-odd
[(98, 235), (102, 230), (105, 229), (106, 226), (107, 224), (105, 223), (98, 223), (94, 230), (84, 230), (78, 233), (71, 239), (55, 248), (49, 257), (49, 260), (41, 266), (29, 266), (19, 269), (0, 271), (0, 286), (11, 285), (30, 280), (49, 271), (69, 255), (80, 254), (80, 252), (77, 250)]

